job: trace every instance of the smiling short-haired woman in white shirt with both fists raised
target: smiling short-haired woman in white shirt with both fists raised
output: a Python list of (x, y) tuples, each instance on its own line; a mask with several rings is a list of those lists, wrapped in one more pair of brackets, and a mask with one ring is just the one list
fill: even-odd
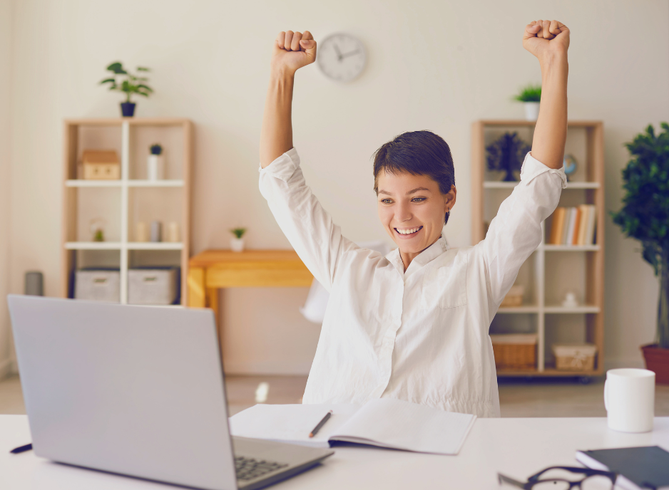
[(262, 120), (260, 191), (297, 254), (330, 291), (305, 403), (394, 397), (499, 417), (489, 326), (566, 187), (569, 30), (557, 21), (532, 22), (523, 46), (541, 65), (541, 111), (521, 182), (486, 239), (460, 249), (446, 245), (441, 230), (456, 202), (449, 147), (431, 132), (407, 132), (374, 156), (379, 219), (398, 246), (381, 256), (345, 239), (305, 184), (292, 146), (292, 90), (295, 72), (315, 61), (316, 42), (308, 31), (277, 37)]

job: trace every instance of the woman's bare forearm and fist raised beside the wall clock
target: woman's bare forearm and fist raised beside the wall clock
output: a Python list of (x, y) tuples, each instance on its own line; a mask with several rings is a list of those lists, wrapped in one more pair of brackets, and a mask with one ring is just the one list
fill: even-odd
[(295, 72), (316, 59), (316, 41), (309, 31), (285, 31), (274, 41), (265, 114), (260, 131), (260, 166), (270, 165), (292, 148), (292, 88)]

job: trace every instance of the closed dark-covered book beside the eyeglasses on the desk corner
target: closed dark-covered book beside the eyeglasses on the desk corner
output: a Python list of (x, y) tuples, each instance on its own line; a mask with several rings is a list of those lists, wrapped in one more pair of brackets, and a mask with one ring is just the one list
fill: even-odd
[(616, 485), (626, 490), (669, 488), (669, 452), (659, 446), (577, 451), (576, 459), (618, 473)]

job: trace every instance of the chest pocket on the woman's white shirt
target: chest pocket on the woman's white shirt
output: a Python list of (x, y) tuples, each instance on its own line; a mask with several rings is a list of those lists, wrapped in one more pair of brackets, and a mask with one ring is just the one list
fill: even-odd
[(467, 304), (467, 259), (458, 254), (451, 264), (431, 266), (423, 278), (422, 309), (457, 308)]

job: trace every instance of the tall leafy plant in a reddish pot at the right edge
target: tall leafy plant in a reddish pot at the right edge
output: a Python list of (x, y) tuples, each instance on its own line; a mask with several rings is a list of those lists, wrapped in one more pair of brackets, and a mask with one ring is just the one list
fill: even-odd
[(643, 345), (655, 381), (669, 384), (669, 125), (652, 125), (627, 143), (632, 159), (623, 170), (623, 209), (611, 213), (626, 236), (641, 242), (643, 259), (660, 278), (656, 343)]

